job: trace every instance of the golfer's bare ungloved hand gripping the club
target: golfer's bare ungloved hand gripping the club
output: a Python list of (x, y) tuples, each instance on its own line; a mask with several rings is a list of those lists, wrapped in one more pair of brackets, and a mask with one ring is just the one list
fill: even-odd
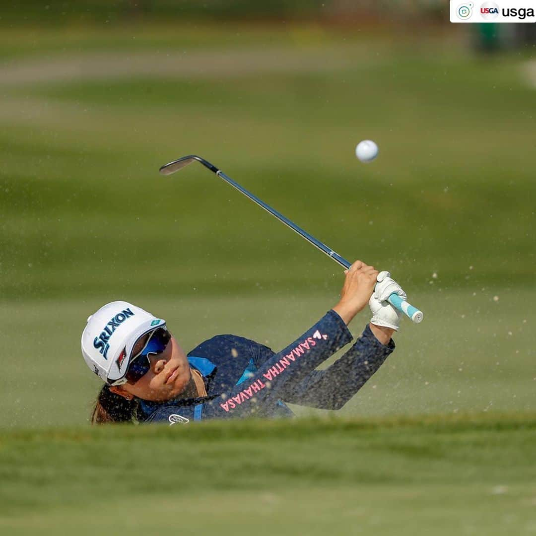
[(345, 270), (346, 279), (340, 293), (340, 301), (333, 310), (346, 324), (358, 314), (369, 302), (376, 285), (378, 271), (361, 260), (356, 260), (348, 270)]

